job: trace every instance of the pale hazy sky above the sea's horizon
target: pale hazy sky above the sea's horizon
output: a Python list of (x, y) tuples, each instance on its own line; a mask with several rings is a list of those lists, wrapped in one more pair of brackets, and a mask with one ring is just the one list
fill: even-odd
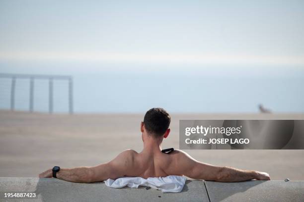
[(304, 64), (303, 0), (1, 0), (0, 60)]

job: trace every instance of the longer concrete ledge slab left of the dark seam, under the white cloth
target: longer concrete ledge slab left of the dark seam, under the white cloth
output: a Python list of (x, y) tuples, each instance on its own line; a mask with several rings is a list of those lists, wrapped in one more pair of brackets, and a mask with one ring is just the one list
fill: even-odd
[(54, 178), (0, 178), (0, 192), (17, 191), (36, 192), (38, 200), (31, 200), (33, 202), (189, 202), (189, 199), (192, 202), (209, 202), (204, 181), (198, 180), (187, 180), (181, 193), (163, 194), (144, 187), (109, 188), (103, 182), (84, 184)]

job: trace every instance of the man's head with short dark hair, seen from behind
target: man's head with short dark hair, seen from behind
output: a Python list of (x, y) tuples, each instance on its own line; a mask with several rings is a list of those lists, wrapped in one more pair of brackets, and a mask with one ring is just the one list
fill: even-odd
[(144, 127), (148, 135), (153, 138), (164, 137), (169, 135), (171, 117), (163, 108), (157, 107), (147, 111), (142, 122), (142, 132)]

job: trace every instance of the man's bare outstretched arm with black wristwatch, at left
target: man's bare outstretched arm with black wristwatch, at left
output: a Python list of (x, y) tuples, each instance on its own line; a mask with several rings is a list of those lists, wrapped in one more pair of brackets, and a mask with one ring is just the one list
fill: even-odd
[[(90, 183), (106, 179), (117, 179), (127, 174), (133, 167), (132, 152), (126, 150), (107, 163), (92, 167), (61, 168), (56, 177), (69, 182)], [(52, 177), (52, 169), (39, 174), (39, 177)]]

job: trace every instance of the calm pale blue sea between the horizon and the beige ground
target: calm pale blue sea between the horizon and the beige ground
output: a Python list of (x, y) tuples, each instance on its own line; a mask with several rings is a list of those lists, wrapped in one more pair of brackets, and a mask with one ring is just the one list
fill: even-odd
[[(0, 62), (0, 73), (72, 75), (75, 112), (304, 112), (304, 68), (261, 65), (161, 65)], [(48, 81), (35, 80), (34, 109), (48, 110)], [(0, 79), (0, 108), (10, 106), (10, 80)], [(15, 108), (29, 107), (29, 80), (18, 79)], [(54, 81), (54, 111), (68, 111), (68, 83)]]

